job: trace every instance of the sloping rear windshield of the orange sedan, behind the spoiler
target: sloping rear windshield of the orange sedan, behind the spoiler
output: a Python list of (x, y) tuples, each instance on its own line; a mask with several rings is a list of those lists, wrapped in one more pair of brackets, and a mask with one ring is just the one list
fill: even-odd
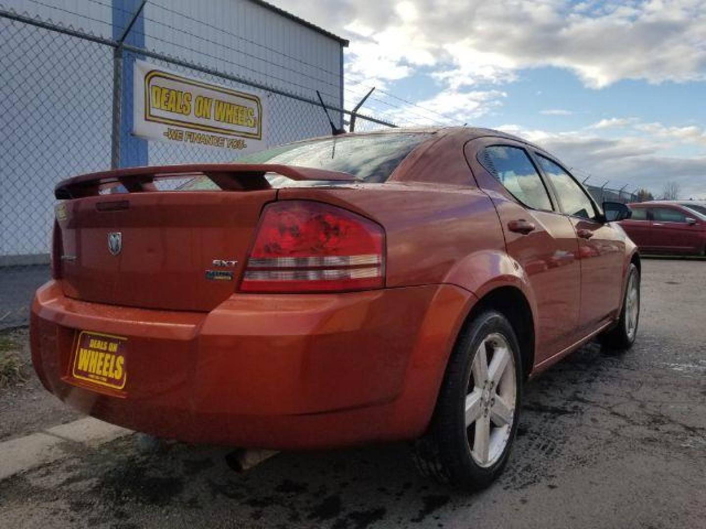
[[(237, 164), (283, 164), (342, 173), (357, 176), (365, 182), (384, 182), (390, 178), (395, 168), (407, 154), (412, 152), (429, 133), (391, 133), (361, 136), (342, 136), (307, 140), (272, 147), (271, 149), (246, 154), (237, 159)], [(311, 185), (294, 183), (284, 176), (267, 175), (274, 187), (284, 185)], [(217, 189), (205, 176), (194, 178), (181, 190)]]

